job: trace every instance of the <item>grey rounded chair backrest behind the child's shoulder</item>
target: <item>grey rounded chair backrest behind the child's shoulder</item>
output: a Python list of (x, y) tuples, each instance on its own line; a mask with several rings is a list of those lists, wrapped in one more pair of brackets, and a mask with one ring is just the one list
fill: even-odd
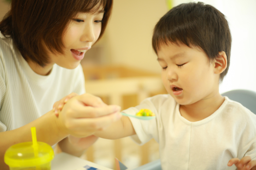
[(256, 92), (250, 90), (232, 90), (222, 94), (231, 100), (241, 103), (244, 107), (256, 114)]

